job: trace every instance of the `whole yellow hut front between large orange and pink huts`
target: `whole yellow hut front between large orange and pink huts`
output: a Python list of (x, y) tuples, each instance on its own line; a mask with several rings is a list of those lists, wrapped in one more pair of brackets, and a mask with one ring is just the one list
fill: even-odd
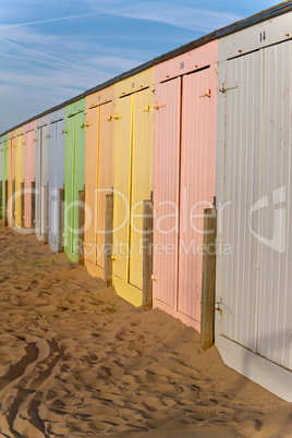
[(153, 86), (149, 69), (114, 88), (113, 285), (136, 306), (142, 304), (143, 222), (131, 211), (141, 214), (151, 192)]

